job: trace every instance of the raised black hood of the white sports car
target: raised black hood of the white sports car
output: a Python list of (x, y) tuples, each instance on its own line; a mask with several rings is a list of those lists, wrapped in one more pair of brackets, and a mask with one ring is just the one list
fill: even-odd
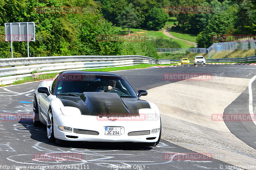
[(77, 107), (82, 115), (137, 116), (141, 108), (150, 108), (145, 100), (120, 98), (116, 93), (84, 92), (81, 96), (57, 96), (64, 106)]

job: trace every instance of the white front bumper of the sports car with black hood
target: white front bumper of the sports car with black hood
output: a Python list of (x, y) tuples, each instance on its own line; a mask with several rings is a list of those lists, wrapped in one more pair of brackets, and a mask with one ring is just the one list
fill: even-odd
[[(116, 120), (108, 119), (101, 120), (99, 116), (81, 115), (66, 116), (59, 115), (54, 119), (54, 137), (60, 140), (67, 141), (87, 141), (87, 142), (142, 142), (153, 143), (157, 142), (160, 133), (160, 116), (154, 120)], [(72, 132), (61, 131), (58, 127), (71, 127)], [(122, 127), (121, 135), (105, 135), (105, 127)], [(157, 133), (151, 133), (152, 129), (158, 129)], [(88, 135), (74, 133), (74, 129), (83, 129), (98, 132), (98, 135)], [(129, 132), (148, 131), (147, 135), (128, 136)], [(96, 133), (97, 134), (97, 133)]]

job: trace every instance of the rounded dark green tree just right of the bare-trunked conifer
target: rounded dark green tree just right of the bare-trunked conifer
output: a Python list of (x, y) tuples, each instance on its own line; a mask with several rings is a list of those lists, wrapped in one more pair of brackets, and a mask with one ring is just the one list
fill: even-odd
[(167, 19), (168, 14), (164, 13), (162, 9), (154, 6), (154, 8), (149, 11), (147, 18), (147, 26), (150, 29), (159, 30), (164, 27), (164, 24), (167, 21)]

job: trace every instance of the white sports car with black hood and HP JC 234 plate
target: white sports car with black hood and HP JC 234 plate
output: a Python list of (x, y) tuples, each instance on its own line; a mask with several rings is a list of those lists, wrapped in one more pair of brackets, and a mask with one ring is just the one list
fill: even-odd
[(33, 122), (46, 125), (55, 139), (88, 142), (133, 142), (157, 145), (161, 137), (158, 107), (110, 72), (64, 71), (38, 86)]

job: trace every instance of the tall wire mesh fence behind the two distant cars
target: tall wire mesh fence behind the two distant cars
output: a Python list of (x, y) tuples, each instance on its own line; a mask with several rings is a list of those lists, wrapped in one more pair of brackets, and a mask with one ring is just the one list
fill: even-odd
[(156, 52), (159, 53), (186, 53), (189, 51), (190, 53), (204, 53), (208, 54), (208, 59), (211, 58), (212, 55), (222, 52), (222, 51), (235, 51), (239, 50), (248, 50), (255, 49), (256, 43), (255, 41), (230, 41), (230, 42), (217, 42), (213, 43), (208, 48), (156, 48)]

